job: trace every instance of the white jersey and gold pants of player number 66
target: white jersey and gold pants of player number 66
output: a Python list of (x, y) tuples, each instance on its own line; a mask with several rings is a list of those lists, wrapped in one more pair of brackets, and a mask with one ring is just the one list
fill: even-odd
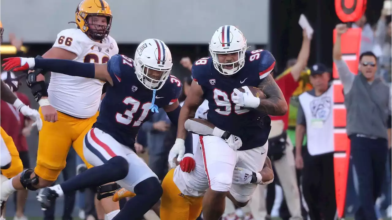
[[(53, 47), (77, 55), (74, 61), (106, 63), (118, 53), (116, 41), (107, 36), (102, 42), (91, 40), (80, 29), (61, 31)], [(54, 181), (65, 167), (69, 148), (83, 156), (83, 138), (98, 117), (104, 82), (98, 79), (68, 76), (52, 72), (48, 87), (49, 102), (58, 112), (58, 121), (44, 121), (39, 135), (37, 166), (34, 172), (45, 180)], [(86, 163), (87, 164), (87, 163)], [(87, 164), (90, 168), (91, 165)]]

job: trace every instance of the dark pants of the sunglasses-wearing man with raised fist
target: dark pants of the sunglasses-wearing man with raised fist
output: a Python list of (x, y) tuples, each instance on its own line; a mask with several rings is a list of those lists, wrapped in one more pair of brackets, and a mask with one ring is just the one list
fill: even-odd
[(358, 177), (359, 208), (356, 220), (376, 220), (374, 204), (381, 194), (387, 162), (387, 139), (370, 139), (350, 135), (351, 157)]

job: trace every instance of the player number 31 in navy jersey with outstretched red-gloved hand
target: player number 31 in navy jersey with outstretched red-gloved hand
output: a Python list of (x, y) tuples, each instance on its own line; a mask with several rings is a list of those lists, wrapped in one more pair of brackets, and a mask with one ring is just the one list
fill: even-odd
[[(134, 60), (114, 55), (107, 63), (79, 63), (69, 60), (7, 58), (4, 69), (15, 71), (33, 67), (71, 76), (96, 78), (110, 83), (102, 100), (100, 114), (84, 139), (83, 151), (87, 162), (94, 167), (62, 184), (42, 189), (37, 198), (42, 207), (69, 191), (98, 188), (99, 197), (113, 196), (117, 182), (136, 193), (124, 209), (113, 219), (140, 219), (160, 199), (162, 188), (158, 177), (134, 152), (136, 134), (140, 126), (158, 108), (163, 108), (173, 124), (178, 124), (180, 80), (170, 75), (172, 56), (160, 40), (147, 39), (140, 43)], [(189, 136), (191, 136), (189, 134)], [(184, 154), (192, 154), (192, 138), (184, 144)], [(181, 153), (181, 152), (180, 152)], [(181, 161), (193, 164), (192, 157)], [(109, 213), (110, 214), (110, 213)]]

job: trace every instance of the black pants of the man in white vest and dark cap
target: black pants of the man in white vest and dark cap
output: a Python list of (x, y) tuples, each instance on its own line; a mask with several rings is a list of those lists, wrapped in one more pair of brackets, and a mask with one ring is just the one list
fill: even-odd
[(312, 220), (333, 220), (336, 215), (334, 155), (326, 153), (304, 157), (303, 196)]

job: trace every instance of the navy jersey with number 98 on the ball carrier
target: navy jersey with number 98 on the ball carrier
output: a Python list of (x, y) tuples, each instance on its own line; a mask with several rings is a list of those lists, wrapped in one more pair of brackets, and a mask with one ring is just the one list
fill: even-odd
[(224, 76), (214, 68), (212, 58), (202, 58), (192, 66), (192, 77), (209, 102), (208, 121), (241, 138), (240, 150), (263, 146), (270, 132), (270, 118), (255, 109), (232, 102), (234, 88), (258, 87), (274, 69), (275, 58), (268, 50), (245, 52), (245, 65), (236, 74)]

